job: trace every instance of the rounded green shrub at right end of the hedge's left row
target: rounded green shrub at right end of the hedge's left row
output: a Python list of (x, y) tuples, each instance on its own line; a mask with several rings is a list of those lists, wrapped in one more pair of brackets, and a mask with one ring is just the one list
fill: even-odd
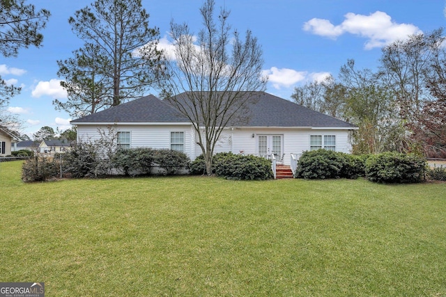
[(155, 150), (153, 162), (165, 170), (166, 175), (174, 175), (178, 170), (187, 168), (190, 163), (189, 157), (176, 150)]

